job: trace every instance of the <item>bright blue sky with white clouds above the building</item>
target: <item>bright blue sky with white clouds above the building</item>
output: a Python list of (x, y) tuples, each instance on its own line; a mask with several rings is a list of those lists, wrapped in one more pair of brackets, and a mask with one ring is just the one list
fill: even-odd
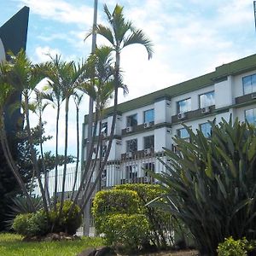
[[(129, 95), (124, 97), (120, 91), (119, 102), (210, 73), (255, 53), (251, 0), (99, 0), (97, 23), (106, 23), (104, 3), (111, 11), (116, 3), (124, 6), (125, 18), (143, 29), (154, 44), (150, 61), (143, 46), (132, 45), (122, 51), (121, 68)], [(30, 8), (26, 52), (33, 62), (48, 61), (48, 54), (61, 54), (67, 61), (86, 59), (91, 38), (84, 42), (84, 37), (92, 26), (94, 0), (0, 0), (0, 26), (24, 5)], [(97, 37), (97, 44), (106, 41)], [(88, 98), (84, 97), (80, 126), (86, 113)], [(55, 110), (47, 108), (44, 119), (46, 132), (54, 136)], [(68, 153), (75, 154), (73, 107), (69, 127)], [(64, 138), (64, 122), (60, 132)], [(53, 139), (46, 149), (54, 151), (54, 146)]]

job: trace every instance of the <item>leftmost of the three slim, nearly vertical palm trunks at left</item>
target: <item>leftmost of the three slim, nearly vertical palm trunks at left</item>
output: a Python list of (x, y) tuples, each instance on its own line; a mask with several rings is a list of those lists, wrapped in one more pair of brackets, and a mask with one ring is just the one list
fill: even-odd
[(54, 191), (54, 209), (55, 212), (57, 211), (57, 189), (58, 189), (58, 165), (59, 165), (59, 154), (58, 154), (58, 148), (59, 148), (59, 120), (60, 120), (60, 103), (57, 103), (57, 116), (56, 116), (56, 143), (55, 143), (55, 191)]

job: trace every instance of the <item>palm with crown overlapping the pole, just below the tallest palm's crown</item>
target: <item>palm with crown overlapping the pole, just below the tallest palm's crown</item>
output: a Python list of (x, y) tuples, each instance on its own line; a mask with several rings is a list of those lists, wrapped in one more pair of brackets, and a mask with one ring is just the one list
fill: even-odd
[[(89, 95), (95, 102), (95, 125), (93, 131), (93, 139), (96, 137), (97, 123), (99, 119), (102, 119), (102, 110), (108, 102), (109, 97), (113, 95), (113, 58), (111, 56), (112, 49), (108, 46), (101, 47), (95, 50), (86, 61), (86, 73), (84, 74), (84, 83), (79, 85), (79, 89)], [(100, 138), (100, 137), (99, 137)], [(100, 140), (97, 141), (96, 148), (99, 148)], [(79, 195), (84, 188), (84, 181), (87, 178), (84, 193), (90, 185), (90, 179), (92, 177), (93, 169), (90, 168), (91, 164), (96, 161), (92, 161), (94, 143), (91, 143), (89, 150), (89, 160), (86, 161), (84, 166), (84, 172), (81, 177), (81, 183), (77, 191), (74, 203), (78, 202)], [(98, 150), (96, 150), (96, 153)], [(97, 154), (96, 154), (97, 158)], [(90, 170), (90, 173), (89, 173)], [(74, 204), (73, 204), (74, 205)], [(72, 212), (71, 207), (70, 212)]]

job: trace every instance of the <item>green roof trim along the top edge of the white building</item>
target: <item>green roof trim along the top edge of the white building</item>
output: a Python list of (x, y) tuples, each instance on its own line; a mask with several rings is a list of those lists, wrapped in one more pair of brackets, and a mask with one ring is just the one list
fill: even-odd
[[(157, 101), (156, 99), (172, 99), (173, 96), (179, 96), (193, 90), (198, 90), (209, 85), (213, 85), (214, 81), (224, 79), (229, 75), (245, 73), (253, 69), (256, 69), (256, 55), (250, 55), (240, 60), (232, 61), (230, 63), (216, 67), (215, 71), (212, 73), (207, 73), (195, 79), (190, 79), (180, 84), (168, 86), (164, 89), (156, 90), (145, 96), (132, 99), (131, 101), (120, 103), (118, 105), (118, 110), (119, 112), (124, 113), (133, 109), (154, 104), (154, 102)], [(104, 112), (106, 117), (109, 116), (113, 113), (113, 107), (105, 109)], [(87, 115), (84, 116), (84, 123), (87, 123)]]

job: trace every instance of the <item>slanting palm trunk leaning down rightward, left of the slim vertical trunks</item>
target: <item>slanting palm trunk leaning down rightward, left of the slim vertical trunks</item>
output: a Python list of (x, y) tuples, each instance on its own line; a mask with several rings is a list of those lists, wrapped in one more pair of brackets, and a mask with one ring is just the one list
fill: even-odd
[(38, 177), (38, 184), (39, 184), (39, 188), (40, 188), (42, 199), (43, 199), (44, 210), (46, 212), (47, 218), (49, 218), (47, 200), (46, 200), (46, 197), (44, 194), (44, 187), (43, 187), (43, 183), (42, 183), (42, 180), (40, 177), (40, 172), (38, 169), (38, 161), (37, 161), (35, 149), (34, 149), (33, 142), (32, 142), (32, 134), (31, 134), (30, 121), (29, 121), (29, 110), (28, 110), (28, 96), (26, 93), (25, 93), (25, 114), (26, 114), (26, 131), (27, 131), (27, 136), (28, 136), (28, 143), (30, 146), (30, 152), (32, 154), (32, 164), (35, 169), (36, 175)]

